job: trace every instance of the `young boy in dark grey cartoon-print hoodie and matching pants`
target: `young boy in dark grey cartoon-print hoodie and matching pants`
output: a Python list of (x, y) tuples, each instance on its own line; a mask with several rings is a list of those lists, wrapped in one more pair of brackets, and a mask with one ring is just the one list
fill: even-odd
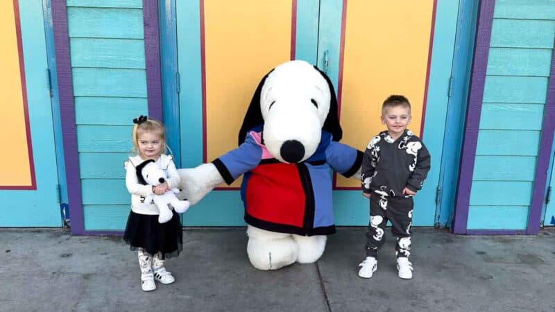
[(377, 255), (385, 243), (384, 229), (391, 221), (397, 239), (397, 270), (402, 279), (412, 278), (411, 222), (413, 196), (422, 189), (430, 168), (428, 150), (410, 130), (411, 104), (392, 95), (382, 105), (387, 127), (373, 137), (362, 162), (362, 192), (370, 198), (370, 223), (366, 232), (366, 259), (359, 264), (359, 277), (369, 279), (377, 269)]

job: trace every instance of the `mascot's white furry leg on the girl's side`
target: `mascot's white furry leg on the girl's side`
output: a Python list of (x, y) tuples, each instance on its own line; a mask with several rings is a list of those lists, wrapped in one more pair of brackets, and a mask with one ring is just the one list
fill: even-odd
[(247, 235), (248, 259), (258, 270), (278, 270), (297, 260), (297, 244), (290, 234), (248, 225)]

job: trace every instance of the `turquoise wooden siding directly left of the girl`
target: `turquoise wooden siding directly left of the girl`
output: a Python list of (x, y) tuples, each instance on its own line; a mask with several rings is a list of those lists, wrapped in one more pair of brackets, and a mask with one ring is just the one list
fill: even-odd
[(123, 229), (123, 162), (147, 114), (142, 0), (67, 0), (85, 230)]

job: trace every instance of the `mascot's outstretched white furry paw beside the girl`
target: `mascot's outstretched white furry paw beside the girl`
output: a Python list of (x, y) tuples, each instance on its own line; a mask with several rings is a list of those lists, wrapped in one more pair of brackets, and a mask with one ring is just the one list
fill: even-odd
[(196, 168), (178, 169), (181, 177), (178, 198), (187, 199), (191, 205), (203, 199), (214, 187), (223, 182), (223, 178), (214, 164), (201, 164)]

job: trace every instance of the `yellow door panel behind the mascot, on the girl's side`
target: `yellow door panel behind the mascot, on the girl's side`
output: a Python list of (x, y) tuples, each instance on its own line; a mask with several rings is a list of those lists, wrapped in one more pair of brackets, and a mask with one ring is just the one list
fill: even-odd
[(258, 83), (290, 59), (291, 5), (284, 0), (271, 6), (259, 0), (205, 0), (207, 161), (237, 148)]

